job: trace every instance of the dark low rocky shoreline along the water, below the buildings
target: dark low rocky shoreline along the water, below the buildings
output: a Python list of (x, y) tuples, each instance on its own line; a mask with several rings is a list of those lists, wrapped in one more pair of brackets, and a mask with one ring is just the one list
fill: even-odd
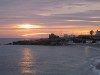
[(100, 44), (95, 43), (77, 43), (77, 42), (71, 42), (71, 40), (66, 40), (64, 38), (58, 38), (58, 39), (36, 39), (36, 40), (21, 40), (21, 41), (13, 41), (11, 43), (8, 43), (6, 45), (80, 45), (80, 46), (90, 46), (90, 47), (97, 47), (100, 48)]

